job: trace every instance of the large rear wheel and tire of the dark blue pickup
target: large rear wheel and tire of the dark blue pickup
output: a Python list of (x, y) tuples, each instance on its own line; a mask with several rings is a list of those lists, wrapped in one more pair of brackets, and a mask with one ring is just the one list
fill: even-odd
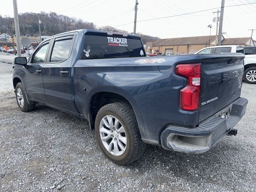
[[(111, 123), (109, 124), (111, 122), (111, 120), (109, 121), (110, 118), (112, 118), (113, 124), (112, 127), (108, 128), (106, 124), (111, 125)], [(104, 124), (103, 119), (107, 120), (106, 124)], [(115, 122), (119, 125), (114, 125)], [(103, 128), (105, 128), (106, 133), (103, 133), (105, 132)], [(141, 139), (134, 110), (128, 102), (116, 102), (103, 106), (96, 116), (95, 134), (104, 154), (112, 162), (119, 165), (128, 165), (134, 162), (142, 156), (146, 149), (146, 143)], [(124, 137), (126, 138), (126, 144), (123, 142), (125, 141)], [(106, 138), (106, 142), (103, 141), (103, 138)], [(114, 142), (117, 144), (115, 145)], [(114, 146), (117, 145), (118, 150), (115, 150), (116, 147), (114, 148)]]

